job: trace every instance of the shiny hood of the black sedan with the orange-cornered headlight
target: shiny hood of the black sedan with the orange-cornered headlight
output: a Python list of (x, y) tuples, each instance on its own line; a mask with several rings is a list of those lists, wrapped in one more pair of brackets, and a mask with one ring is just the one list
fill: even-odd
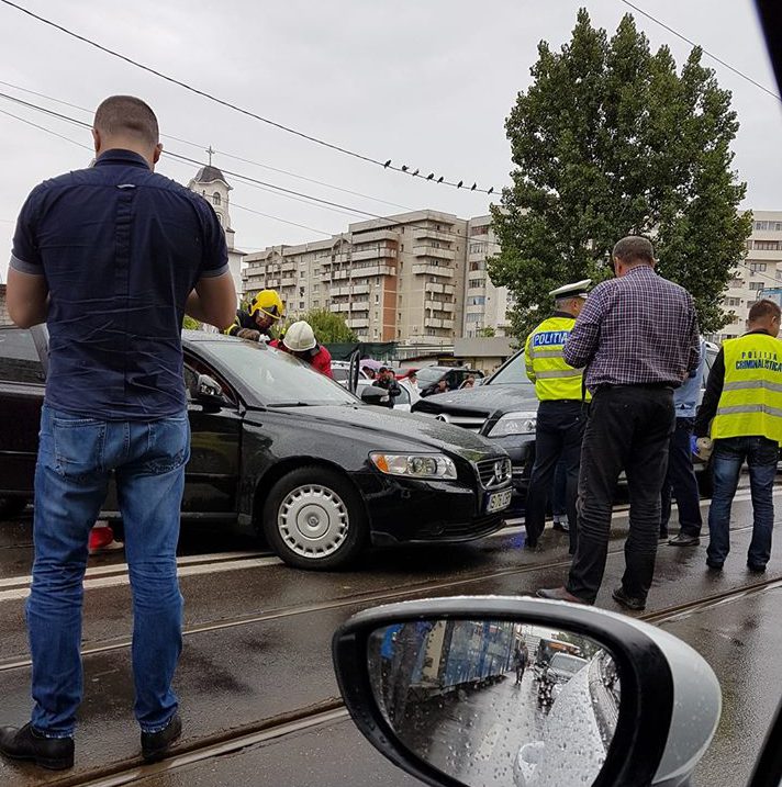
[[(375, 439), (383, 438), (383, 442), (395, 445), (401, 442), (416, 443), (414, 450), (421, 450), (421, 445), (437, 451), (450, 451), (470, 461), (478, 461), (489, 456), (498, 456), (496, 443), (461, 429), (450, 424), (398, 413), (387, 407), (370, 405), (315, 405), (309, 407), (273, 407), (267, 412), (289, 414), (294, 416), (305, 428), (311, 424), (321, 432), (333, 429), (340, 431), (348, 428), (356, 438), (372, 435)], [(252, 412), (247, 414), (252, 419)]]

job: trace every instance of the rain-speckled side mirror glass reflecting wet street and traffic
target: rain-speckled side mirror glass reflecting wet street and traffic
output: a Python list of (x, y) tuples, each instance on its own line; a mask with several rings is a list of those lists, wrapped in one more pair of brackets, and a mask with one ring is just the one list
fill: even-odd
[(470, 787), (594, 784), (619, 679), (594, 640), (512, 620), (416, 620), (368, 640), (375, 699), (401, 742)]

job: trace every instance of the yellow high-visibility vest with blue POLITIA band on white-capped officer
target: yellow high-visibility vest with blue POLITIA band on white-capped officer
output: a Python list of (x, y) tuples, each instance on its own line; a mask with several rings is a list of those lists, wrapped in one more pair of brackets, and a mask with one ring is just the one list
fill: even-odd
[(527, 336), (524, 362), (541, 402), (581, 401), (583, 369), (568, 366), (562, 356), (562, 347), (574, 324), (574, 317), (549, 317)]

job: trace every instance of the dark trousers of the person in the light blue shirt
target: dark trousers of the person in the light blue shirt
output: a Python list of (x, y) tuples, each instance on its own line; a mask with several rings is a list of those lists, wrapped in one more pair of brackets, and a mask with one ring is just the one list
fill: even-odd
[(695, 425), (694, 418), (677, 418), (677, 426), (668, 446), (668, 472), (662, 484), (660, 505), (660, 532), (668, 531), (671, 518), (671, 493), (679, 505), (679, 528), (683, 536), (700, 536), (703, 519), (701, 517), (701, 495), (697, 479), (692, 469), (692, 447), (690, 438)]

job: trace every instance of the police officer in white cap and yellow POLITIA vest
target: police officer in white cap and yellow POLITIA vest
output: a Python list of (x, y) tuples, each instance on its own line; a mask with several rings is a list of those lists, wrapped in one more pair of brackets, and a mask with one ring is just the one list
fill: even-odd
[(576, 498), (579, 483), (583, 413), (583, 370), (565, 362), (562, 346), (572, 330), (586, 299), (591, 280), (552, 290), (556, 312), (527, 337), (524, 361), (527, 376), (535, 383), (540, 405), (535, 428), (535, 464), (529, 476), (525, 510), (526, 544), (535, 549), (546, 525), (546, 508), (557, 463), (567, 470), (567, 509), (570, 521), (570, 553), (576, 552)]

